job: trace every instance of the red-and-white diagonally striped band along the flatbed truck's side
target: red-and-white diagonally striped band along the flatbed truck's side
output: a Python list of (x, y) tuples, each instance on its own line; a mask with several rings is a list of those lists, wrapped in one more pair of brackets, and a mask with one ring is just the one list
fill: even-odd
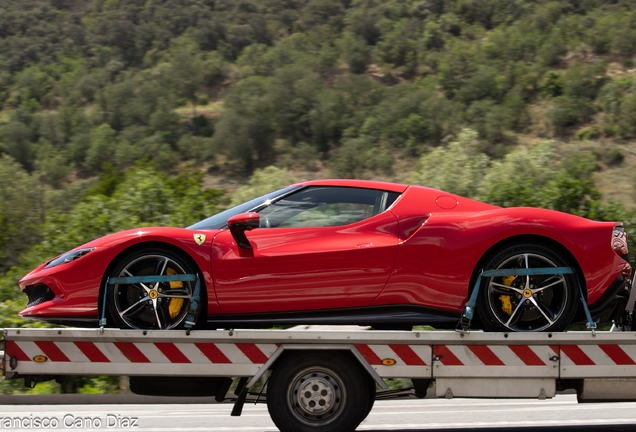
[[(250, 376), (281, 346), (205, 341), (7, 340), (7, 357), (30, 373)], [(384, 377), (636, 377), (633, 344), (355, 344)], [(38, 358), (40, 357), (40, 358)], [(106, 365), (110, 366), (106, 366)], [(214, 368), (210, 368), (214, 365)], [(163, 369), (162, 369), (163, 368)], [(106, 372), (106, 370), (108, 372)]]

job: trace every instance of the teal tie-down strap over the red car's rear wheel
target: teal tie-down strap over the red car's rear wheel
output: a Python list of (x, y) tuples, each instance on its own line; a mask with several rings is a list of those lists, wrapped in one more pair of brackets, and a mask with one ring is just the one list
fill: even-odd
[[(585, 311), (585, 318), (587, 319), (587, 327), (592, 329), (596, 328), (596, 323), (592, 320), (592, 315), (585, 302), (585, 296), (583, 295), (583, 287), (579, 283), (576, 272), (572, 267), (540, 267), (540, 268), (520, 268), (520, 269), (495, 269), (495, 270), (482, 270), (475, 283), (475, 289), (470, 295), (468, 302), (464, 306), (462, 316), (459, 319), (458, 327), (461, 327), (460, 331), (467, 331), (470, 329), (470, 322), (475, 314), (475, 305), (477, 304), (477, 295), (481, 285), (482, 277), (498, 277), (498, 276), (536, 276), (536, 275), (557, 275), (557, 274), (572, 274), (575, 276), (576, 284), (579, 287), (579, 295), (581, 304), (583, 304), (583, 310)], [(459, 330), (459, 329), (458, 329)]]

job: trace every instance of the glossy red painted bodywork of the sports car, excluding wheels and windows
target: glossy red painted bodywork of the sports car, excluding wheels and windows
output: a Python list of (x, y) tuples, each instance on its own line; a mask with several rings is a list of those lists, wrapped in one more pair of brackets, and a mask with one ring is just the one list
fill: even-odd
[[(131, 248), (164, 244), (198, 267), (207, 314), (417, 305), (459, 313), (471, 278), (493, 248), (515, 238), (543, 238), (576, 261), (588, 304), (631, 267), (612, 249), (616, 223), (535, 208), (500, 208), (435, 189), (360, 180), (316, 180), (302, 186), (379, 189), (401, 194), (386, 211), (344, 226), (258, 228), (240, 248), (227, 229), (149, 227), (93, 240), (76, 261), (27, 274), (20, 287), (43, 283), (50, 301), (28, 307), (31, 318), (97, 320), (110, 266)], [(197, 244), (194, 236), (204, 234)], [(77, 248), (79, 249), (79, 248)]]

